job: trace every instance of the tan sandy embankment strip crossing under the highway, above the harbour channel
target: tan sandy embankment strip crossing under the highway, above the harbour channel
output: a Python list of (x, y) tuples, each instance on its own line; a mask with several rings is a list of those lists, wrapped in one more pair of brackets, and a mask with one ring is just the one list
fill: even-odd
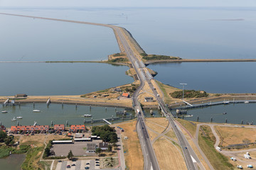
[[(7, 98), (15, 99), (16, 103), (46, 103), (50, 98), (50, 103), (58, 104), (78, 104), (85, 106), (102, 106), (102, 107), (117, 107), (117, 108), (132, 108), (131, 98), (117, 100), (116, 98), (81, 98), (80, 96), (28, 96), (27, 98), (14, 98), (13, 96), (0, 96), (0, 102), (4, 103)], [(207, 103), (214, 101), (235, 101), (238, 100), (256, 100), (256, 94), (223, 94), (223, 96), (209, 96), (206, 98), (184, 98), (185, 101), (191, 104), (196, 103)], [(184, 106), (185, 103), (182, 101), (169, 103), (171, 108), (177, 106)], [(148, 103), (143, 106), (143, 108), (158, 108), (157, 104)]]

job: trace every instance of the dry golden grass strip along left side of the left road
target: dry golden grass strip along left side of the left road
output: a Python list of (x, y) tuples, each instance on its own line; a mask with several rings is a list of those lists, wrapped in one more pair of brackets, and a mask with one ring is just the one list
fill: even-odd
[(129, 170), (143, 169), (144, 166), (144, 157), (142, 155), (142, 148), (136, 131), (136, 123), (137, 120), (133, 120), (129, 123), (122, 123), (122, 125), (120, 125), (120, 127), (124, 129), (124, 132), (122, 132), (122, 139), (124, 139), (124, 136), (128, 137), (128, 140), (123, 140), (123, 147), (125, 152), (125, 164)]

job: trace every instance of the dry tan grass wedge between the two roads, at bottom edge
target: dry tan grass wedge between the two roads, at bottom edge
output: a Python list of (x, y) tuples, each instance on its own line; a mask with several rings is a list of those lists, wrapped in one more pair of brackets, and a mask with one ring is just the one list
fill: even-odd
[(153, 147), (160, 169), (186, 169), (181, 152), (169, 140), (160, 137), (159, 140), (154, 142)]

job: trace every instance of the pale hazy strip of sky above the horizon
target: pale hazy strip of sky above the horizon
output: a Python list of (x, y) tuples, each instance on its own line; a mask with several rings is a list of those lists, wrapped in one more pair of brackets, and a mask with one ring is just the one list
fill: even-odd
[(256, 6), (256, 0), (0, 0), (0, 7)]

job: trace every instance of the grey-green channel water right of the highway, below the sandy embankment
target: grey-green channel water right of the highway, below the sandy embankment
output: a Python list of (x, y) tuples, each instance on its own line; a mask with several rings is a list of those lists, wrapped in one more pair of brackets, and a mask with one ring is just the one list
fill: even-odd
[[(200, 122), (210, 122), (210, 118), (213, 118), (213, 123), (225, 123), (225, 119), (228, 123), (255, 123), (256, 120), (256, 103), (237, 103), (228, 105), (211, 106), (206, 108), (188, 109), (189, 115), (193, 115), (191, 118), (184, 118), (186, 120), (197, 121), (199, 117)], [(175, 111), (172, 111), (174, 114)], [(227, 113), (223, 115), (223, 113)], [(176, 114), (176, 113), (175, 113)]]

